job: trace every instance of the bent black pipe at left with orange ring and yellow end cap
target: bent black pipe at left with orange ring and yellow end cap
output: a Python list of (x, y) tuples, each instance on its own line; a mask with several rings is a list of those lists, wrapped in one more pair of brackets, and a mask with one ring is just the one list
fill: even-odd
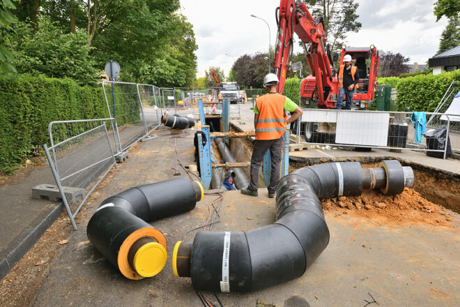
[(204, 197), (187, 178), (130, 188), (104, 200), (89, 220), (89, 241), (126, 278), (155, 276), (166, 264), (166, 239), (148, 224), (194, 209)]

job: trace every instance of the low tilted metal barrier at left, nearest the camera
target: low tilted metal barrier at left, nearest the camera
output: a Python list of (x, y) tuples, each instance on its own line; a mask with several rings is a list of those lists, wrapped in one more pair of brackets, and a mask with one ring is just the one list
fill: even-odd
[[(102, 122), (100, 126), (91, 128), (90, 123), (98, 121)], [(72, 135), (79, 129), (84, 131)], [(43, 147), (72, 227), (77, 230), (75, 216), (112, 166), (116, 167), (113, 141), (103, 119), (52, 122), (49, 131), (52, 146), (44, 144)]]

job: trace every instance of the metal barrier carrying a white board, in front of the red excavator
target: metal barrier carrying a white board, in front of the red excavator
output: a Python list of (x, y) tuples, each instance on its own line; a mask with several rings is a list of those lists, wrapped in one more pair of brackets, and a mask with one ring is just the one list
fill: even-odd
[[(452, 133), (452, 115), (424, 113), (429, 122), (426, 133), (415, 128), (411, 117), (423, 117), (420, 112), (379, 112), (360, 110), (304, 109), (295, 128), (297, 144), (316, 144), (324, 149), (358, 147), (362, 150), (401, 149), (438, 153), (446, 158), (449, 147), (458, 147), (460, 135)], [(438, 140), (429, 135), (436, 132)], [(427, 138), (429, 139), (427, 141)], [(305, 140), (305, 142), (302, 141)], [(448, 143), (450, 141), (450, 143)]]

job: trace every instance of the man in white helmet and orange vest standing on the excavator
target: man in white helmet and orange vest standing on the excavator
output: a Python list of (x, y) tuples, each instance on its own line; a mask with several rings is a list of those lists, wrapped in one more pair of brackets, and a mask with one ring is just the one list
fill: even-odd
[(358, 89), (359, 80), (360, 75), (358, 74), (358, 68), (356, 66), (351, 66), (351, 55), (346, 54), (344, 56), (344, 64), (339, 68), (339, 94), (337, 96), (336, 110), (342, 109), (344, 95), (346, 97), (344, 110), (351, 110), (353, 92), (355, 89)]

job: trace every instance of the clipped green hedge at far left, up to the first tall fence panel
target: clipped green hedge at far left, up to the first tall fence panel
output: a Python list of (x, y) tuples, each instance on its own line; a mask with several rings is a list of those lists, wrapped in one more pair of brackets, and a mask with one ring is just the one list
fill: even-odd
[(0, 97), (0, 174), (49, 144), (49, 122), (108, 117), (102, 87), (80, 87), (70, 79), (3, 75)]

